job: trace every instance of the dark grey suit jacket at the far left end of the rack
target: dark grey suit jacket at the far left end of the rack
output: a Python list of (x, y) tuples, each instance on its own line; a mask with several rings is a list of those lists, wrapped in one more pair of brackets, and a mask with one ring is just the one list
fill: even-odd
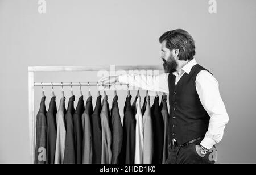
[(46, 97), (42, 97), (38, 114), (36, 115), (36, 147), (35, 164), (46, 163)]

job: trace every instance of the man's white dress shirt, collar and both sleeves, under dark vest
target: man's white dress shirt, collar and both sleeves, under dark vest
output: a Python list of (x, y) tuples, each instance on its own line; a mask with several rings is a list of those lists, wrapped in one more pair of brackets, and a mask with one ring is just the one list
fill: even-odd
[[(185, 73), (189, 74), (192, 67), (196, 64), (196, 60), (193, 59), (184, 65), (180, 72), (176, 71), (172, 73), (176, 76), (175, 84), (177, 85), (177, 82), (179, 82), (180, 78)], [(123, 84), (129, 84), (134, 87), (169, 93), (168, 76), (168, 73), (159, 74), (157, 76), (134, 73), (122, 74), (118, 77), (118, 80)], [(218, 86), (218, 81), (208, 71), (202, 70), (197, 74), (196, 91), (204, 109), (210, 116), (208, 131), (200, 143), (207, 149), (212, 148), (213, 145), (221, 141), (225, 126), (229, 121), (229, 116), (226, 112), (224, 102), (221, 99)]]

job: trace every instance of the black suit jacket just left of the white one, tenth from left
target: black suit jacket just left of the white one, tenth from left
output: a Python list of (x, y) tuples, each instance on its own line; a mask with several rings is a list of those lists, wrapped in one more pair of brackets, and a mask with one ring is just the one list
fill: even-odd
[(123, 114), (122, 153), (125, 164), (133, 164), (135, 157), (135, 121), (133, 111), (131, 109), (131, 95), (126, 97)]

